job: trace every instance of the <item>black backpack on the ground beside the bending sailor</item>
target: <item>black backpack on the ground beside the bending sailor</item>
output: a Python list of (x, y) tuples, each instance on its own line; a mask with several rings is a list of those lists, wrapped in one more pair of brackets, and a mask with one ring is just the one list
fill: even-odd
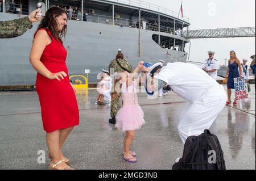
[(172, 170), (226, 170), (217, 136), (205, 129), (199, 136), (188, 137), (183, 156), (172, 166)]

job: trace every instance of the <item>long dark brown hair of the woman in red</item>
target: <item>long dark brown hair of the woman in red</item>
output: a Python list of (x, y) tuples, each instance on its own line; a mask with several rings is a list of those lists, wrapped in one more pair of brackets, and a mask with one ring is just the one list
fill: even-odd
[(60, 7), (51, 7), (46, 11), (46, 16), (44, 16), (44, 18), (38, 26), (38, 30), (40, 28), (46, 28), (47, 30), (49, 30), (52, 36), (56, 40), (59, 40), (62, 44), (62, 38), (63, 36), (65, 38), (65, 35), (67, 33), (67, 26), (64, 26), (61, 31), (57, 31), (58, 24), (56, 18), (63, 14), (67, 15), (67, 12), (64, 9), (61, 9)]

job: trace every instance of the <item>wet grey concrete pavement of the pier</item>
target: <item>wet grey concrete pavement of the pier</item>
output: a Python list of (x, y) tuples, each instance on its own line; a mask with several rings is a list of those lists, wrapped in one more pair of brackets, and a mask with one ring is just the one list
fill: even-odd
[[(254, 85), (251, 86), (252, 88)], [(171, 169), (183, 153), (177, 116), (187, 104), (171, 92), (158, 99), (139, 93), (146, 124), (136, 132), (132, 150), (137, 163), (122, 160), (123, 134), (108, 123), (109, 106), (94, 104), (96, 90), (80, 92), (80, 125), (65, 142), (63, 152), (75, 169)], [(234, 94), (233, 94), (234, 96)], [(48, 169), (46, 136), (38, 95), (0, 92), (0, 169)], [(255, 169), (255, 90), (237, 107), (225, 107), (210, 131), (217, 134), (227, 169)], [(38, 163), (38, 150), (46, 163)]]

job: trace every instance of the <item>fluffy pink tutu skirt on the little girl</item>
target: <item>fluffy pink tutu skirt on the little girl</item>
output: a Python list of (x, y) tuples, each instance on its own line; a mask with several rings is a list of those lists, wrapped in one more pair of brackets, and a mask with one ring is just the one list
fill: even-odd
[(123, 105), (115, 116), (115, 119), (117, 119), (115, 128), (122, 132), (140, 129), (145, 124), (143, 117), (144, 112), (138, 104)]

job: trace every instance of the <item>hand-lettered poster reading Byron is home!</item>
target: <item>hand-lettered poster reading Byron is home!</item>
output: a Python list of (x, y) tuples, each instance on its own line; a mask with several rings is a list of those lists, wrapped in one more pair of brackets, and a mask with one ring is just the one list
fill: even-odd
[(236, 90), (236, 100), (243, 100), (248, 98), (247, 83), (245, 83), (245, 78), (242, 79), (234, 78), (234, 87)]

